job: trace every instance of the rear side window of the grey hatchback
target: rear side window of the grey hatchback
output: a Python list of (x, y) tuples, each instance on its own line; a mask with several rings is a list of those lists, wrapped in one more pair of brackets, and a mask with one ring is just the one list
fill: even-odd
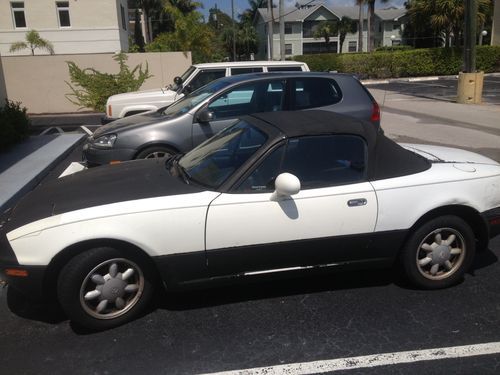
[(294, 79), (291, 86), (291, 107), (295, 110), (324, 107), (342, 99), (338, 84), (330, 78)]

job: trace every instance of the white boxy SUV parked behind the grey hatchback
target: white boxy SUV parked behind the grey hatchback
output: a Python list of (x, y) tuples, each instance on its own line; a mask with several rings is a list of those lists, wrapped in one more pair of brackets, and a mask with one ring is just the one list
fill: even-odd
[(207, 83), (222, 77), (245, 73), (309, 71), (306, 63), (297, 61), (238, 61), (195, 64), (174, 83), (161, 89), (127, 92), (110, 96), (106, 102), (106, 116), (102, 123), (137, 113), (165, 107)]

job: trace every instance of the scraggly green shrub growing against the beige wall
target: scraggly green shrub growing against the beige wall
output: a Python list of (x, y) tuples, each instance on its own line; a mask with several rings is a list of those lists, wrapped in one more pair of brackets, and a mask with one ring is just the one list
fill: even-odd
[(151, 77), (147, 64), (144, 70), (142, 64), (130, 70), (124, 53), (113, 56), (113, 59), (120, 67), (117, 74), (101, 73), (94, 68), (81, 69), (74, 62), (67, 61), (71, 84), (66, 84), (71, 93), (66, 94), (66, 98), (82, 108), (104, 112), (106, 100), (111, 95), (137, 91)]

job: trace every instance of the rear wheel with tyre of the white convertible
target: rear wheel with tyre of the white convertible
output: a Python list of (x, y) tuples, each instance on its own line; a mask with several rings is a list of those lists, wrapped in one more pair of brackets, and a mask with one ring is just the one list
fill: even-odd
[(440, 216), (417, 228), (401, 252), (409, 281), (424, 289), (447, 288), (462, 280), (475, 254), (471, 227), (457, 216)]

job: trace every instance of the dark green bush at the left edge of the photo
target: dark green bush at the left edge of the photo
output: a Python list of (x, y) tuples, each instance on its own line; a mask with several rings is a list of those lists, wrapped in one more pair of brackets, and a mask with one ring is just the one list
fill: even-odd
[(5, 100), (0, 108), (0, 151), (26, 139), (30, 132), (30, 120), (21, 103)]

